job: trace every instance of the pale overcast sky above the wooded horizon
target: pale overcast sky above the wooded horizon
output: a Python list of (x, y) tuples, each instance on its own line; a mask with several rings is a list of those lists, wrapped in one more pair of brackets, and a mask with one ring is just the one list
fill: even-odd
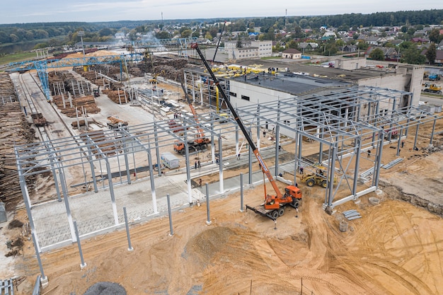
[(442, 9), (439, 0), (4, 0), (0, 23), (314, 16)]

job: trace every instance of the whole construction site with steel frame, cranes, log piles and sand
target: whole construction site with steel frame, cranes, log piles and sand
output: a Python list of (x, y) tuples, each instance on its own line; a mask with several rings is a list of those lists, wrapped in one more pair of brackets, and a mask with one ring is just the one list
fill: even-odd
[(443, 294), (422, 67), (362, 72), (409, 77), (384, 88), (183, 44), (0, 74), (1, 295)]

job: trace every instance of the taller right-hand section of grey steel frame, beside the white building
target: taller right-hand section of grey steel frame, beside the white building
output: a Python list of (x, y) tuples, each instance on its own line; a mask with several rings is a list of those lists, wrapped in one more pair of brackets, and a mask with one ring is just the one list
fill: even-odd
[[(383, 166), (383, 146), (396, 142), (398, 155), (401, 138), (408, 135), (409, 128), (416, 127), (416, 146), (419, 126), (432, 122), (432, 144), (435, 122), (442, 116), (411, 106), (412, 101), (412, 93), (409, 92), (356, 86), (260, 103), (242, 107), (238, 112), (242, 120), (255, 122), (258, 137), (260, 127), (267, 124), (275, 125), (272, 133), (275, 133), (276, 145), (280, 134), (296, 139), (292, 172), (298, 171), (301, 166), (304, 171), (312, 172), (315, 172), (316, 166), (326, 167), (328, 187), (324, 207), (333, 209), (338, 204), (376, 190)], [(307, 154), (305, 142), (311, 142), (309, 146), (316, 145), (318, 151)], [(375, 161), (370, 173), (374, 176), (368, 187), (359, 185), (359, 180), (365, 180), (360, 175), (359, 161), (362, 157), (359, 155), (362, 152), (366, 154), (369, 149), (374, 149)], [(276, 151), (275, 174), (278, 175), (278, 149)]]

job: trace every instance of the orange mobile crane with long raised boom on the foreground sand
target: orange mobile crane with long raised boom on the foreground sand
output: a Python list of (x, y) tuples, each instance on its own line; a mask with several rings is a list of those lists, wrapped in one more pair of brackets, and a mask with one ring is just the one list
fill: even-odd
[(205, 64), (205, 67), (209, 75), (214, 81), (214, 84), (219, 89), (219, 93), (222, 94), (222, 97), (226, 101), (226, 105), (228, 105), (229, 110), (231, 110), (231, 114), (234, 117), (234, 120), (236, 120), (238, 127), (240, 127), (241, 132), (243, 132), (243, 136), (248, 141), (248, 144), (251, 147), (253, 154), (257, 158), (257, 161), (260, 164), (260, 168), (263, 174), (266, 175), (267, 180), (269, 180), (270, 185), (272, 185), (272, 188), (275, 190), (275, 195), (269, 195), (266, 192), (266, 185), (264, 185), (265, 197), (263, 204), (260, 204), (256, 207), (251, 207), (246, 205), (246, 209), (251, 209), (253, 212), (257, 214), (275, 220), (277, 219), (278, 216), (282, 216), (284, 214), (284, 207), (286, 207), (287, 205), (294, 208), (298, 208), (301, 201), (301, 190), (299, 189), (299, 187), (296, 187), (294, 185), (288, 185), (287, 187), (284, 188), (284, 194), (280, 192), (277, 183), (275, 182), (274, 178), (272, 178), (270, 170), (267, 168), (265, 161), (263, 161), (260, 152), (258, 151), (257, 147), (254, 144), (254, 141), (252, 140), (251, 136), (248, 134), (248, 131), (246, 130), (246, 127), (243, 125), (243, 122), (241, 122), (240, 117), (238, 117), (238, 114), (234, 109), (234, 107), (231, 105), (231, 102), (229, 101), (229, 98), (226, 96), (226, 93), (224, 93), (224, 89), (222, 88), (222, 86), (220, 86), (219, 80), (214, 75), (211, 66), (209, 66), (209, 64), (207, 63), (205, 56), (202, 54), (202, 51), (198, 47), (198, 44), (192, 43), (191, 48), (197, 51), (198, 55), (200, 56), (200, 59), (202, 59), (203, 64)]

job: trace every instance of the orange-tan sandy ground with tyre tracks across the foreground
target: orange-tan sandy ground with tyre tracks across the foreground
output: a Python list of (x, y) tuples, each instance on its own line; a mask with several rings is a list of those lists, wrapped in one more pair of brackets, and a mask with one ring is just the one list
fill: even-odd
[[(439, 122), (436, 130), (442, 125)], [(431, 127), (420, 127), (420, 133), (429, 134)], [(411, 132), (400, 155), (404, 161), (382, 170), (381, 178), (403, 192), (441, 195), (443, 153), (412, 151), (413, 139)], [(428, 142), (419, 137), (418, 146)], [(384, 163), (396, 158), (395, 152), (386, 146)], [(369, 167), (362, 161), (365, 165)], [(224, 177), (238, 173), (226, 171)], [(212, 178), (217, 180), (218, 175)], [(125, 231), (81, 241), (83, 270), (76, 244), (43, 253), (49, 284), (42, 294), (84, 294), (103, 281), (117, 282), (134, 295), (443, 294), (441, 217), (393, 199), (398, 192), (392, 187), (336, 207), (331, 216), (321, 207), (321, 187), (301, 189), (299, 212), (287, 209), (277, 224), (253, 212), (240, 212), (236, 193), (211, 200), (210, 225), (206, 204), (173, 212), (173, 235), (167, 217), (132, 225), (132, 251)], [(258, 204), (263, 195), (263, 185), (245, 190), (245, 204)], [(369, 197), (378, 197), (380, 204), (372, 206)], [(362, 218), (348, 221), (348, 230), (341, 232), (342, 212), (349, 209), (357, 209)], [(25, 210), (18, 210), (16, 219), (25, 221)], [(0, 251), (6, 253), (6, 238), (21, 233), (0, 226)], [(11, 277), (11, 272), (26, 277), (14, 294), (30, 294), (40, 270), (29, 240), (21, 255), (0, 259), (0, 279)]]

